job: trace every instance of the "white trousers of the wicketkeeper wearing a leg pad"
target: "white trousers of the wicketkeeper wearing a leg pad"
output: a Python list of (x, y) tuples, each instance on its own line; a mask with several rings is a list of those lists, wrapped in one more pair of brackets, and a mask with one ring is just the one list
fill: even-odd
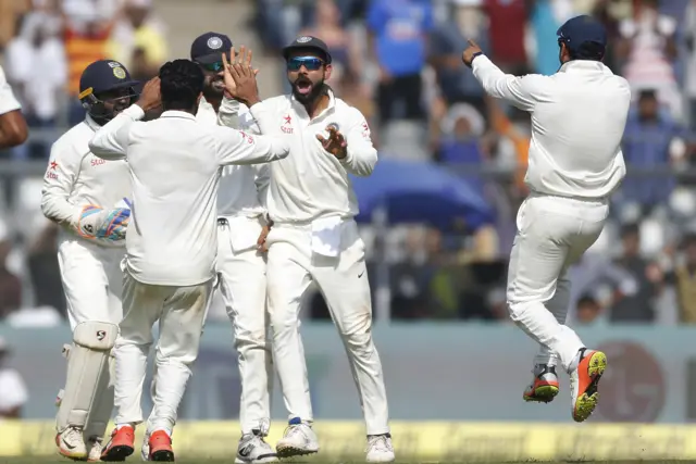
[[(58, 244), (58, 264), (67, 301), (67, 319), (71, 330), (84, 322), (119, 324), (123, 315), (121, 296), (123, 247), (101, 247), (76, 237), (61, 237)], [(110, 359), (113, 361), (113, 358)], [(103, 437), (113, 412), (114, 363), (96, 389), (104, 388), (103, 400), (94, 405), (94, 426), (87, 426), (85, 436)], [(95, 396), (99, 396), (95, 392)], [(99, 425), (101, 424), (101, 425)]]

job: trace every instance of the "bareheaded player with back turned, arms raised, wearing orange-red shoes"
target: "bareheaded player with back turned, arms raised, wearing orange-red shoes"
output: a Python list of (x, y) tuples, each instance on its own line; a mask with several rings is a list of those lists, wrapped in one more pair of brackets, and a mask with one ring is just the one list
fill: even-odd
[(148, 83), (141, 97), (147, 105), (160, 98), (161, 88), (160, 118), (138, 122), (145, 112), (132, 105), (90, 142), (92, 152), (103, 159), (125, 159), (133, 183), (124, 317), (115, 346), (116, 428), (103, 452), (109, 460), (125, 459), (134, 451), (135, 427), (142, 422), (147, 353), (152, 326), (159, 321), (148, 459), (174, 461), (171, 437), (215, 277), (221, 167), (279, 160), (289, 149), (277, 137), (200, 124), (195, 114), (203, 80), (191, 61), (164, 64), (159, 79)]

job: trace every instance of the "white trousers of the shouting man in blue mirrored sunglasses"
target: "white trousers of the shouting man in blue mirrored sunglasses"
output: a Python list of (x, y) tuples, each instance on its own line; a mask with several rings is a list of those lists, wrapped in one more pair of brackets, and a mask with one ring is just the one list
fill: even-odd
[(358, 225), (340, 224), (340, 254), (312, 252), (311, 225), (276, 224), (266, 238), (273, 353), (290, 418), (313, 421), (299, 312), (314, 281), (346, 348), (368, 435), (389, 431), (382, 362), (372, 341), (372, 303)]

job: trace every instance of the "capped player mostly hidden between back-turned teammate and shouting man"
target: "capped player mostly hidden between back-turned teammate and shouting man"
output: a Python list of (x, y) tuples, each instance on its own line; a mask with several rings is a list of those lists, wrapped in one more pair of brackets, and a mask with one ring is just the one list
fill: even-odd
[[(190, 57), (206, 75), (203, 98), (196, 117), (202, 124), (224, 125), (250, 134), (260, 134), (247, 106), (224, 95), (222, 54), (231, 57), (232, 40), (224, 34), (206, 33), (194, 40)], [(251, 57), (248, 55), (250, 65)], [(265, 255), (257, 240), (265, 225), (261, 203), (269, 185), (270, 164), (225, 166), (217, 192), (217, 289), (234, 327), (238, 353), (241, 398), (239, 422), (241, 438), (237, 462), (277, 461), (275, 450), (265, 442), (271, 424), (273, 354), (266, 311)]]

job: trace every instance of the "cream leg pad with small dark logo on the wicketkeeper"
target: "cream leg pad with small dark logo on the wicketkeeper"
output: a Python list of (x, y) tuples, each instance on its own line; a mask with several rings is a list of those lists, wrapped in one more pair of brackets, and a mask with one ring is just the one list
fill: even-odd
[(73, 346), (64, 351), (67, 378), (55, 418), (58, 432), (74, 426), (84, 428), (86, 438), (103, 435), (99, 430), (107, 429), (113, 407), (109, 365), (117, 336), (115, 324), (90, 321), (75, 327)]

